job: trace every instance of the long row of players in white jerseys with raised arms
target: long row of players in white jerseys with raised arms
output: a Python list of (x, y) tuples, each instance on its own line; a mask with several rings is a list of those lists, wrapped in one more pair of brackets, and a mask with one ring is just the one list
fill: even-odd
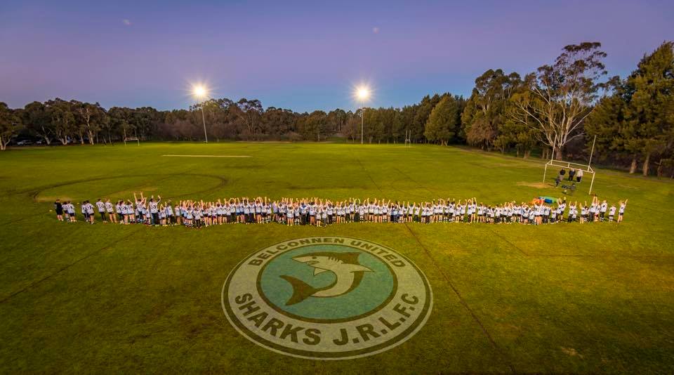
[[(140, 194), (131, 199), (110, 202), (110, 199), (98, 199), (94, 204), (84, 201), (80, 204), (81, 214), (88, 223), (95, 223), (95, 210), (104, 223), (144, 223), (147, 225), (185, 225), (201, 228), (210, 225), (228, 223), (282, 223), (286, 225), (324, 226), (339, 223), (523, 223), (541, 225), (566, 221), (572, 223), (593, 223), (597, 221), (623, 220), (627, 199), (620, 201), (618, 207), (600, 202), (593, 197), (587, 202), (569, 202), (559, 199), (555, 205), (545, 202), (506, 202), (497, 205), (485, 205), (477, 199), (458, 201), (438, 199), (432, 202), (392, 202), (385, 199), (348, 199), (332, 202), (327, 199), (283, 198), (271, 201), (267, 197), (230, 198), (221, 202), (185, 200), (173, 205), (163, 202), (161, 196), (148, 199)], [(568, 210), (567, 210), (568, 208)], [(59, 221), (77, 221), (77, 213), (72, 202), (54, 203)], [(607, 217), (608, 216), (608, 217)]]

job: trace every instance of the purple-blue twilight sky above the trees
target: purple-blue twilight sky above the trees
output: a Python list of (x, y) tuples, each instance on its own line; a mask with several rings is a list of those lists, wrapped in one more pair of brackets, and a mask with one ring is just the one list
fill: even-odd
[[(101, 4), (99, 4), (101, 3)], [(674, 39), (674, 1), (30, 1), (0, 7), (0, 101), (185, 108), (190, 83), (298, 112), (470, 95), (600, 41), (609, 74)]]

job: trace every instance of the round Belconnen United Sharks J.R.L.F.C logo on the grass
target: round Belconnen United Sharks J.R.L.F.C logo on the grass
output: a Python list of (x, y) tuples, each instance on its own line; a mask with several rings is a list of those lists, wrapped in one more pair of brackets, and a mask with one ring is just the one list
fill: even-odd
[(381, 353), (432, 308), (423, 272), (392, 249), (348, 237), (292, 239), (256, 251), (223, 286), (227, 320), (277, 353), (343, 360)]

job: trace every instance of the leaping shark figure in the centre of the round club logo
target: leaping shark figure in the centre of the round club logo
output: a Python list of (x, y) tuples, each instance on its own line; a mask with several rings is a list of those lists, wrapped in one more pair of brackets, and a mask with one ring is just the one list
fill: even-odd
[(316, 253), (296, 256), (293, 261), (305, 263), (314, 268), (314, 275), (330, 271), (335, 274), (335, 281), (322, 288), (315, 288), (296, 277), (282, 275), (282, 279), (293, 287), (293, 296), (286, 302), (286, 306), (300, 303), (309, 297), (336, 297), (356, 289), (363, 279), (365, 272), (371, 269), (358, 263), (360, 253), (333, 253), (320, 251)]

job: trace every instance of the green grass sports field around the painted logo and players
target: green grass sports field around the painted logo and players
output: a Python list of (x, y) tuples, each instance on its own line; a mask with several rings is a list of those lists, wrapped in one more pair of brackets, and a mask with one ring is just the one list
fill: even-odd
[[(430, 145), (148, 143), (2, 152), (0, 371), (673, 373), (671, 180), (600, 170), (597, 194), (629, 199), (620, 225), (197, 231), (58, 223), (49, 211), (56, 197), (117, 199), (138, 190), (173, 200), (529, 201), (559, 195), (541, 184), (542, 166)], [(587, 199), (587, 188), (581, 184), (575, 198)], [(220, 305), (227, 274), (253, 251), (313, 235), (367, 239), (414, 261), (435, 298), (423, 329), (385, 353), (328, 362), (272, 353), (242, 337)]]

